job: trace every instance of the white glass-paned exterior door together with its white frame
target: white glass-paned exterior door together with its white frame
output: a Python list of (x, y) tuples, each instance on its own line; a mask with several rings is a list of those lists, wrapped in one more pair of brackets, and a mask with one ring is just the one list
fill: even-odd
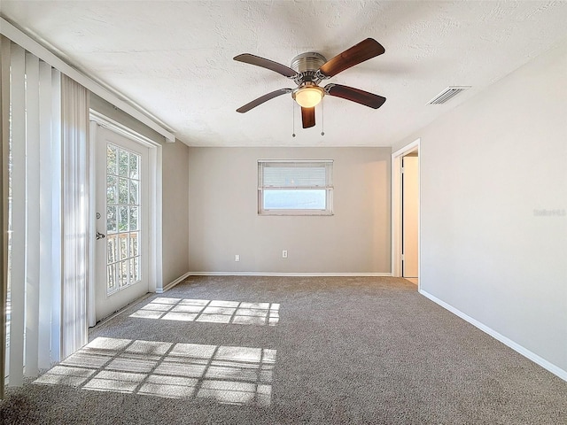
[(161, 276), (161, 145), (90, 111), (89, 326), (147, 292)]

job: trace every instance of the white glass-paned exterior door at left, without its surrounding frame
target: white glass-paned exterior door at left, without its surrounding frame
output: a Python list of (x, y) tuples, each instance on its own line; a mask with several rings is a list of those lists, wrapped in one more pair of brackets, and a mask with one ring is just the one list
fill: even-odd
[(95, 312), (100, 321), (148, 292), (148, 157), (97, 126)]

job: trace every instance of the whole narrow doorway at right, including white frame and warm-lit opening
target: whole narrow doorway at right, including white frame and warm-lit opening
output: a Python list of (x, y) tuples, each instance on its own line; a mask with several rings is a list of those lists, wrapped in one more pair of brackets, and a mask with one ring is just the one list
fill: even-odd
[(419, 287), (419, 143), (392, 153), (392, 276)]

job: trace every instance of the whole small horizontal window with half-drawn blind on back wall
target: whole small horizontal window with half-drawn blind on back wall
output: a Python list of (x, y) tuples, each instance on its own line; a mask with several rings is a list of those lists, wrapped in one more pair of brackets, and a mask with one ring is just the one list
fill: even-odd
[(332, 160), (258, 161), (260, 215), (332, 215)]

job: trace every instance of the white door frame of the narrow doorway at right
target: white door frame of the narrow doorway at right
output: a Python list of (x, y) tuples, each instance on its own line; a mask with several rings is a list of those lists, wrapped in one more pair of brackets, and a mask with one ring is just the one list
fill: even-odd
[[(392, 153), (392, 276), (401, 277), (401, 250), (402, 250), (402, 207), (401, 207), (401, 158), (409, 153), (417, 152), (417, 191), (418, 205), (421, 206), (421, 139), (407, 144), (403, 148)], [(417, 275), (418, 289), (421, 288), (421, 208), (417, 212)]]

